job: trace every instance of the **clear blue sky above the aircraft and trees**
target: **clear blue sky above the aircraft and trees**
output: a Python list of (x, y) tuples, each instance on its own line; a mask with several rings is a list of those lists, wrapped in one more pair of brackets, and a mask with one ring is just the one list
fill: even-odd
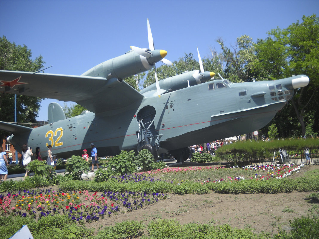
[[(131, 45), (148, 48), (147, 18), (155, 48), (173, 62), (184, 53), (197, 58), (197, 46), (202, 58), (210, 47), (220, 52), (218, 37), (227, 47), (244, 34), (256, 41), (313, 13), (319, 16), (319, 1), (0, 0), (0, 35), (26, 45), (33, 59), (41, 54), (53, 65), (45, 73), (81, 75)], [(38, 120), (48, 119), (50, 102), (57, 101), (43, 100)]]

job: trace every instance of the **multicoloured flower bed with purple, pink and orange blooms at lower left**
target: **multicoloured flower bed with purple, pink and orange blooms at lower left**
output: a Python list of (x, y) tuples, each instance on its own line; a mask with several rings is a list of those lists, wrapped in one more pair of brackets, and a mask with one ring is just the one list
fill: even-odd
[(41, 218), (65, 214), (75, 221), (93, 221), (118, 212), (137, 210), (145, 205), (167, 198), (163, 193), (87, 191), (60, 192), (51, 190), (19, 191), (0, 195), (0, 215), (13, 214)]

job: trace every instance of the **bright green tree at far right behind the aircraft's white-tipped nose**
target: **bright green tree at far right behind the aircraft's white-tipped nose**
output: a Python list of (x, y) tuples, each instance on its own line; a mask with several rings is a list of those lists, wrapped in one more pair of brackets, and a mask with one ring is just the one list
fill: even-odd
[[(260, 39), (254, 45), (257, 60), (248, 63), (253, 76), (280, 79), (305, 74), (310, 79), (308, 86), (294, 90), (293, 98), (286, 106), (291, 109), (278, 113), (283, 115), (275, 117), (271, 123), (281, 123), (286, 128), (292, 125), (294, 131), (302, 135), (306, 133), (306, 125), (312, 125), (313, 131), (318, 132), (319, 18), (303, 16), (302, 23), (297, 21), (286, 29), (273, 29), (268, 34), (265, 40)], [(282, 119), (289, 119), (292, 113), (295, 116), (285, 124)]]

